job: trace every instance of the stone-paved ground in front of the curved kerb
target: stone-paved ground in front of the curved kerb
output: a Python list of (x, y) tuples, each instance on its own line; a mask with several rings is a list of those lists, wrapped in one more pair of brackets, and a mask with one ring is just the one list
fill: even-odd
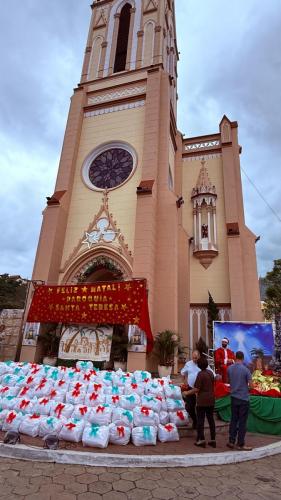
[(221, 467), (117, 469), (0, 458), (7, 500), (280, 500), (281, 455)]

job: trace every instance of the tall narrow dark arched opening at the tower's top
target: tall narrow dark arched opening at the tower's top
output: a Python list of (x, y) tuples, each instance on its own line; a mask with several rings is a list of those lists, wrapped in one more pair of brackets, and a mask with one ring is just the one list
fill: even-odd
[(129, 3), (126, 3), (120, 13), (119, 31), (118, 31), (116, 55), (114, 62), (114, 73), (118, 73), (119, 71), (125, 71), (126, 69), (130, 21), (131, 21), (131, 8), (132, 6)]

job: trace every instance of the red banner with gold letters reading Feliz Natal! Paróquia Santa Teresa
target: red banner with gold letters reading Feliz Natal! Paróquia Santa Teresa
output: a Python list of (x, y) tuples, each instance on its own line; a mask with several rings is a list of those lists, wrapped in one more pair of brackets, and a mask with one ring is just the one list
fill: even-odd
[(36, 286), (27, 321), (138, 325), (153, 346), (146, 280)]

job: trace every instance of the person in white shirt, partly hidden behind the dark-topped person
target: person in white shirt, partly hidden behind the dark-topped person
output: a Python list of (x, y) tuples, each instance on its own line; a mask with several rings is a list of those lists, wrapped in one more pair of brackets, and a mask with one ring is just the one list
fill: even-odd
[[(188, 390), (194, 389), (194, 384), (200, 368), (198, 368), (197, 362), (200, 357), (200, 353), (197, 350), (192, 352), (192, 359), (185, 363), (181, 370), (181, 375), (186, 378), (186, 385)], [(185, 393), (186, 394), (186, 393)], [(196, 416), (196, 394), (192, 393), (189, 396), (185, 396), (185, 407), (192, 420), (192, 428), (197, 428), (197, 416)]]

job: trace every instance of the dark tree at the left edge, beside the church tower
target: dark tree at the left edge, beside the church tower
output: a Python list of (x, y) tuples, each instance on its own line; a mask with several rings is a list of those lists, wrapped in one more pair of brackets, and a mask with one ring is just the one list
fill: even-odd
[(24, 309), (27, 285), (20, 276), (0, 275), (0, 310)]

